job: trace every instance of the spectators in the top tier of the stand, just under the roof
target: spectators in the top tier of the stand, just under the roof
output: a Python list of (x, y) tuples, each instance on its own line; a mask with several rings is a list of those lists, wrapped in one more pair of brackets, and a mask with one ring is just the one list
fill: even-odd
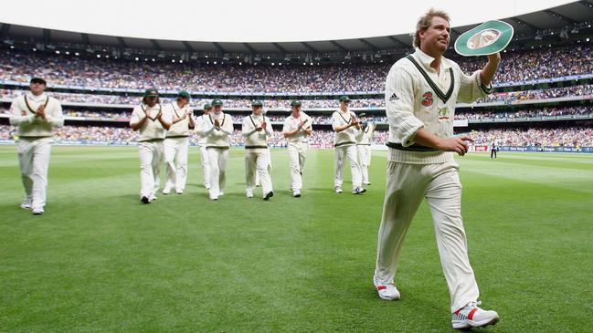
[[(503, 54), (499, 83), (593, 73), (590, 43)], [(5, 50), (0, 80), (28, 82), (31, 75), (50, 85), (89, 88), (188, 89), (211, 92), (380, 91), (392, 64), (269, 66), (179, 64), (126, 59), (48, 55)], [(466, 72), (482, 68), (483, 58), (453, 57)], [(49, 65), (49, 66), (48, 66)]]

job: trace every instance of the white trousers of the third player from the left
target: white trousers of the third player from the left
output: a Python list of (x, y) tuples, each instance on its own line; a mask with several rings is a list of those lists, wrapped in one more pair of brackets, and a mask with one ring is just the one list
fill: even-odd
[(171, 190), (175, 187), (176, 192), (185, 190), (187, 182), (187, 149), (189, 138), (166, 138), (164, 139), (164, 162), (167, 166), (167, 181), (164, 188)]

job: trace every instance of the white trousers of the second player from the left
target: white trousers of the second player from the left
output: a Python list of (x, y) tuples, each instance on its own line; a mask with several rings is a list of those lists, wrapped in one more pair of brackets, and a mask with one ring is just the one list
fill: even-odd
[(140, 197), (154, 198), (161, 184), (163, 140), (138, 142), (140, 151)]

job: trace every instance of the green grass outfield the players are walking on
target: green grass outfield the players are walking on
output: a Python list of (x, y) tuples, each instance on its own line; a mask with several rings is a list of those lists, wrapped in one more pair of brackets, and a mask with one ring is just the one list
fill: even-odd
[[(270, 202), (244, 196), (241, 150), (224, 197), (209, 201), (198, 159), (192, 148), (185, 194), (143, 205), (135, 147), (56, 146), (46, 213), (34, 216), (18, 207), (16, 146), (0, 147), (0, 331), (452, 331), (425, 204), (404, 245), (401, 300), (376, 296), (386, 152), (356, 196), (334, 193), (333, 151), (309, 151), (297, 199), (287, 152), (273, 151)], [(501, 315), (485, 331), (590, 332), (593, 155), (458, 161), (482, 306)]]

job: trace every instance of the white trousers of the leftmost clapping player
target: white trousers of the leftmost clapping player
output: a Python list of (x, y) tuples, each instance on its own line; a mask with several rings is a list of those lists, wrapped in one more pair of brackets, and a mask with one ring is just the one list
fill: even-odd
[(18, 164), (25, 188), (26, 200), (31, 201), (31, 209), (42, 209), (46, 205), (48, 191), (49, 154), (51, 138), (18, 140)]

